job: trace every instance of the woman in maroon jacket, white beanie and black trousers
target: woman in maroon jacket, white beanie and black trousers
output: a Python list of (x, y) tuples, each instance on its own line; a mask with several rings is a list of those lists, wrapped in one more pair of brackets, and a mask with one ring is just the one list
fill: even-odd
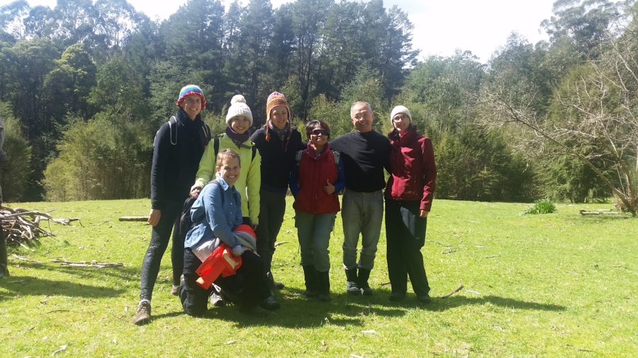
[(427, 214), (437, 179), (432, 141), (418, 134), (408, 108), (396, 106), (390, 115), (392, 174), (386, 186), (386, 240), (390, 301), (401, 301), (408, 290), (408, 275), (417, 299), (430, 302), (423, 256)]

